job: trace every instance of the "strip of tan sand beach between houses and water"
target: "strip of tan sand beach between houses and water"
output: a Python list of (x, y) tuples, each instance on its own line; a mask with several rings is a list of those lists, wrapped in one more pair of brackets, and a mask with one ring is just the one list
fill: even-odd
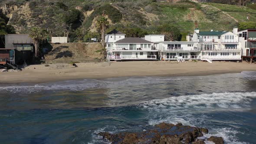
[(75, 79), (104, 79), (124, 76), (196, 76), (256, 71), (247, 62), (134, 61), (30, 65), (21, 72), (0, 72), (0, 83), (46, 83)]

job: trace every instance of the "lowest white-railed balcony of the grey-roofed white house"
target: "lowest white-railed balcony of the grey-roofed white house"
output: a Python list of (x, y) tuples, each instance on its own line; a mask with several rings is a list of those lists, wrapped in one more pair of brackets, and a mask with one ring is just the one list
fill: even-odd
[(147, 55), (147, 56), (132, 56), (132, 55), (120, 55), (120, 56), (108, 56), (108, 59), (111, 60), (128, 60), (128, 59), (157, 59), (156, 55)]

